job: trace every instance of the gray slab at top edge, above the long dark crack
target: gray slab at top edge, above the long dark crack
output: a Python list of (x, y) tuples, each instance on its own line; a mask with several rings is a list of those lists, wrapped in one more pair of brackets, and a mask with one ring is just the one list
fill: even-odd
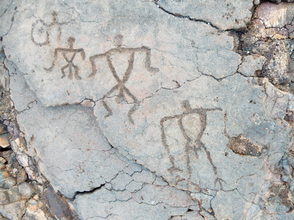
[[(247, 1), (172, 1), (157, 0), (157, 4), (175, 15), (212, 23), (220, 30), (244, 29), (251, 18), (253, 3)], [(216, 10), (217, 9), (217, 10)], [(214, 13), (212, 13), (212, 11)]]

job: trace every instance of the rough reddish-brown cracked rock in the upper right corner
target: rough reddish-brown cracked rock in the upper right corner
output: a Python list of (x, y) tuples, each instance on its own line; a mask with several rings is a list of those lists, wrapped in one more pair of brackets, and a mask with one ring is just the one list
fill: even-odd
[(241, 36), (242, 49), (265, 57), (258, 77), (268, 77), (275, 85), (293, 82), (294, 4), (263, 2)]

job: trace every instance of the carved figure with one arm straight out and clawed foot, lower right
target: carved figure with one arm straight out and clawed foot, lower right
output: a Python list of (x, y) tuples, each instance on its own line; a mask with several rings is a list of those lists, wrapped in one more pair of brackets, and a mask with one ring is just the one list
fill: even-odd
[[(184, 100), (182, 103), (182, 107), (183, 107), (183, 114), (180, 115), (174, 115), (174, 116), (168, 116), (168, 117), (164, 117), (163, 119), (161, 119), (160, 121), (160, 126), (161, 126), (161, 141), (169, 155), (169, 160), (171, 162), (172, 167), (169, 168), (169, 172), (173, 175), (173, 172), (183, 172), (183, 170), (179, 169), (175, 163), (175, 157), (171, 155), (170, 153), (170, 149), (168, 146), (168, 140), (166, 137), (166, 131), (164, 129), (164, 122), (167, 120), (173, 120), (173, 119), (178, 119), (178, 126), (181, 130), (181, 134), (182, 136), (187, 140), (184, 151), (186, 154), (186, 166), (188, 169), (188, 180), (186, 180), (187, 182), (191, 182), (191, 174), (192, 174), (192, 170), (191, 170), (191, 162), (190, 162), (190, 158), (191, 158), (191, 153), (194, 153), (196, 155), (198, 155), (198, 151), (200, 150), (204, 150), (204, 152), (206, 153), (206, 157), (213, 169), (214, 175), (216, 177), (214, 184), (216, 184), (216, 182), (219, 182), (220, 187), (222, 188), (222, 182), (225, 182), (224, 180), (220, 179), (218, 177), (218, 172), (216, 169), (216, 166), (213, 164), (213, 161), (211, 159), (211, 155), (210, 152), (208, 151), (208, 149), (206, 148), (206, 146), (204, 145), (204, 143), (201, 141), (201, 138), (203, 136), (203, 133), (206, 129), (206, 124), (207, 124), (207, 112), (208, 111), (222, 111), (222, 109), (220, 108), (212, 108), (212, 109), (203, 109), (203, 108), (199, 108), (199, 109), (192, 109), (190, 106), (190, 103), (188, 100)], [(191, 115), (191, 114), (198, 114), (199, 119), (200, 119), (200, 129), (198, 131), (198, 134), (196, 136), (191, 136), (188, 134), (184, 124), (183, 124), (183, 119), (185, 116)], [(183, 180), (183, 179), (182, 179)], [(191, 182), (192, 185), (196, 186), (196, 183)], [(198, 185), (197, 185), (198, 186)]]

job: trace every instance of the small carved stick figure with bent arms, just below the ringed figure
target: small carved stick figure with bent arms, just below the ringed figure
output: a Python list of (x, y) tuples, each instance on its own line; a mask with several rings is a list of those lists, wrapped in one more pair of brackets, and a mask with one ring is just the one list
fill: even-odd
[[(61, 67), (61, 73), (62, 73), (62, 77), (65, 77), (65, 73), (64, 73), (64, 70), (66, 69), (69, 69), (69, 75), (67, 78), (69, 78), (70, 80), (73, 78), (73, 72), (72, 72), (72, 68), (74, 68), (74, 76), (75, 76), (75, 79), (77, 80), (80, 80), (81, 77), (78, 75), (78, 67), (76, 65), (74, 65), (73, 63), (73, 60), (76, 56), (77, 53), (80, 53), (81, 54), (81, 57), (83, 60), (85, 60), (85, 52), (83, 49), (74, 49), (74, 42), (75, 42), (75, 39), (72, 38), (72, 37), (69, 37), (68, 40), (68, 48), (56, 48), (54, 50), (54, 60), (52, 62), (52, 65), (51, 67), (49, 68), (45, 68), (44, 67), (44, 70), (47, 70), (47, 71), (52, 71), (53, 67), (55, 66), (55, 62), (58, 58), (58, 53), (61, 53), (62, 54), (62, 57), (64, 58), (64, 60), (67, 62), (67, 65)], [(69, 57), (67, 57), (67, 55), (69, 55)]]

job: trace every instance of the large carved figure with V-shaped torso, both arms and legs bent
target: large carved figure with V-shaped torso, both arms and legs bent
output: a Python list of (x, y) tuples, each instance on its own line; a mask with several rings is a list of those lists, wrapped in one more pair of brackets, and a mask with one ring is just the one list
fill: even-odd
[[(122, 35), (116, 35), (116, 37), (114, 38), (114, 45), (116, 45), (116, 48), (110, 49), (108, 50), (106, 53), (103, 54), (98, 54), (98, 55), (94, 55), (90, 57), (90, 61), (91, 61), (91, 65), (92, 65), (92, 73), (89, 77), (92, 77), (94, 75), (96, 75), (97, 73), (97, 69), (96, 69), (96, 65), (95, 65), (95, 60), (99, 59), (99, 58), (103, 58), (105, 57), (108, 63), (108, 67), (111, 70), (111, 73), (113, 75), (113, 77), (116, 79), (117, 84), (111, 88), (106, 94), (104, 94), (102, 100), (102, 104), (104, 106), (104, 108), (107, 111), (107, 114), (105, 116), (105, 118), (109, 117), (112, 115), (112, 110), (111, 108), (106, 104), (105, 102), (105, 98), (108, 97), (111, 93), (113, 93), (114, 91), (118, 91), (118, 97), (123, 100), (124, 95), (127, 95), (128, 97), (131, 97), (131, 99), (133, 100), (133, 103), (135, 104), (129, 111), (128, 111), (128, 120), (131, 122), (131, 124), (134, 124), (134, 121), (132, 119), (132, 114), (134, 111), (136, 111), (136, 109), (138, 108), (138, 104), (139, 104), (139, 100), (130, 92), (130, 90), (125, 86), (126, 82), (128, 81), (130, 75), (131, 75), (131, 71), (133, 69), (133, 64), (134, 64), (134, 55), (135, 52), (141, 52), (141, 53), (145, 53), (146, 54), (146, 59), (145, 59), (145, 68), (146, 70), (148, 70), (149, 72), (158, 72), (159, 69), (158, 68), (154, 68), (150, 66), (150, 58), (151, 58), (151, 50), (147, 47), (140, 47), (140, 48), (123, 48), (122, 45), (122, 40), (123, 40), (123, 36)], [(126, 55), (130, 55), (130, 58), (128, 60), (128, 67), (126, 69), (126, 72), (123, 75), (123, 79), (120, 79), (116, 73), (116, 70), (113, 67), (112, 61), (111, 61), (111, 55), (116, 55), (116, 54), (126, 54)]]

